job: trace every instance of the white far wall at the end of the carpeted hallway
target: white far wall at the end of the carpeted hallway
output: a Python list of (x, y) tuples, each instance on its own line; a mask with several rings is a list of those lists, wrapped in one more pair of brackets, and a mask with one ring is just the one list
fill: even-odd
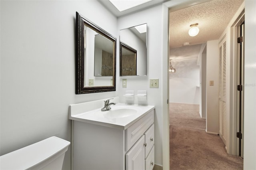
[(173, 58), (171, 62), (176, 73), (169, 74), (170, 103), (199, 104), (200, 68), (196, 59)]

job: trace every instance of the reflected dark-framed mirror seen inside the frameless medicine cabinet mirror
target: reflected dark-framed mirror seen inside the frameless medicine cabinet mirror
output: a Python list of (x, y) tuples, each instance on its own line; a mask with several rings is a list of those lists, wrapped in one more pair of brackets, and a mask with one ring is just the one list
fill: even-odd
[(120, 42), (120, 75), (137, 75), (137, 50)]

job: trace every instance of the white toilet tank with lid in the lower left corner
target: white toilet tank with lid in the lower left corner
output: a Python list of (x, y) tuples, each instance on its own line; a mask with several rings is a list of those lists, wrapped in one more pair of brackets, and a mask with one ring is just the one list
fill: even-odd
[(0, 156), (0, 170), (61, 170), (69, 145), (52, 136)]

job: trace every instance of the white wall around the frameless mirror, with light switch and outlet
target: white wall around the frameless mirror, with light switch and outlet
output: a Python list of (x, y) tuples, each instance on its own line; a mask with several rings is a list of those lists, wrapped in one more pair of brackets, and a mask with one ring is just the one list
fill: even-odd
[[(155, 109), (155, 163), (162, 166), (162, 5), (136, 12), (128, 16), (118, 18), (118, 30), (147, 23), (148, 47), (147, 47), (147, 76), (119, 77), (118, 95), (121, 102), (126, 102), (124, 94), (126, 90), (147, 91), (148, 105), (154, 105)], [(117, 61), (119, 70), (119, 61)], [(166, 67), (167, 71), (167, 67)], [(119, 72), (119, 71), (118, 71)], [(149, 79), (158, 78), (159, 88), (149, 88)], [(122, 88), (122, 79), (127, 79), (127, 88)], [(166, 91), (166, 90), (165, 90)], [(138, 103), (135, 98), (134, 103)]]

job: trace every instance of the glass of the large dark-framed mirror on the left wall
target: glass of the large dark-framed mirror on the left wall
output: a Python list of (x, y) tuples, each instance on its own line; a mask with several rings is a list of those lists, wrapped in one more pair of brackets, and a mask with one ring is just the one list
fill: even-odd
[(84, 24), (84, 87), (113, 85), (113, 45), (114, 42)]

